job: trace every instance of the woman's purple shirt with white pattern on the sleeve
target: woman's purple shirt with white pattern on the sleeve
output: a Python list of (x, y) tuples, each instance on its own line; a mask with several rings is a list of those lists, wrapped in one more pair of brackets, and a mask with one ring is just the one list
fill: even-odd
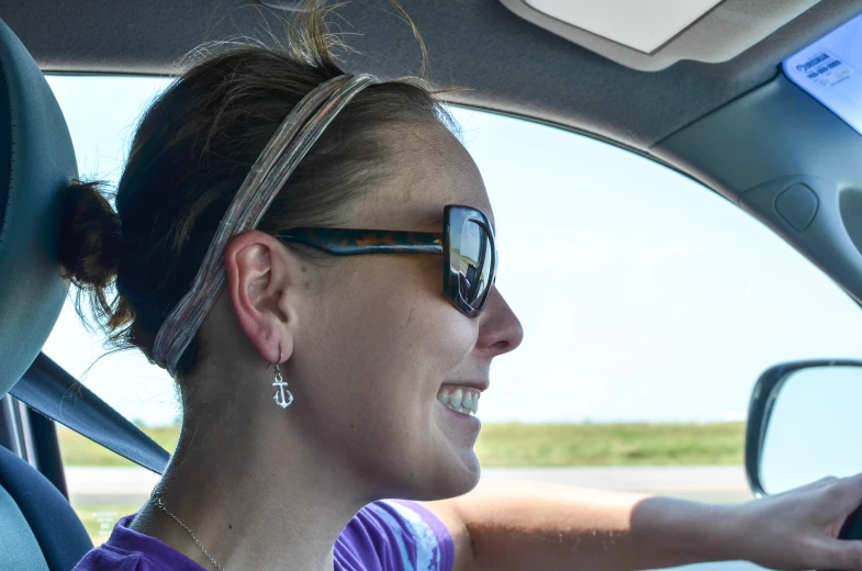
[[(204, 571), (121, 518), (111, 537), (72, 571)], [(415, 502), (384, 500), (354, 516), (335, 542), (335, 571), (451, 571), (455, 544), (446, 526)]]

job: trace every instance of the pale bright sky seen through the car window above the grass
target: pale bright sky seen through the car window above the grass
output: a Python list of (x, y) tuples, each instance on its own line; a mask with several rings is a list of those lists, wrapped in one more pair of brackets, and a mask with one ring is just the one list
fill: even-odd
[[(116, 181), (156, 78), (55, 76), (83, 178)], [(760, 373), (862, 358), (862, 314), (828, 277), (709, 189), (585, 136), (455, 109), (497, 223), (497, 287), (524, 344), (495, 359), (485, 422), (746, 417)], [(45, 352), (125, 416), (178, 417), (172, 381), (111, 355), (67, 304)]]

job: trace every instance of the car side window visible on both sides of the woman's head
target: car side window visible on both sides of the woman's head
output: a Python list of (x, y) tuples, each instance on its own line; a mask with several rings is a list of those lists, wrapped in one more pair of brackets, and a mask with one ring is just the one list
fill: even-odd
[[(86, 179), (115, 182), (168, 80), (49, 77)], [(494, 206), (497, 286), (525, 328), (479, 412), (484, 478), (749, 496), (748, 398), (780, 361), (862, 357), (859, 307), (777, 236), (703, 186), (594, 139), (454, 109)], [(110, 354), (71, 303), (45, 351), (168, 450), (171, 379)], [(93, 540), (157, 477), (60, 427), (71, 501)]]

